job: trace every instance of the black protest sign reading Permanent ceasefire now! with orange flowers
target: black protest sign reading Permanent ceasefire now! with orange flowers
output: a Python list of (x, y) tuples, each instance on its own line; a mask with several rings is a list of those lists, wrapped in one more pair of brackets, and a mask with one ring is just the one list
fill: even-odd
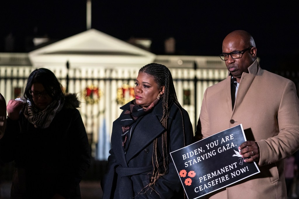
[(188, 199), (236, 183), (260, 172), (245, 163), (238, 147), (246, 141), (242, 124), (170, 153)]

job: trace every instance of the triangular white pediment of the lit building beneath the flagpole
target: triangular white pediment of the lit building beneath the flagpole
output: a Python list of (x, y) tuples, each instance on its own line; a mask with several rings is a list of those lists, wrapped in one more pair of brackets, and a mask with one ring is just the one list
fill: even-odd
[(155, 54), (95, 29), (33, 50), (29, 53), (34, 67), (51, 67), (70, 63), (71, 67), (121, 67), (151, 63)]

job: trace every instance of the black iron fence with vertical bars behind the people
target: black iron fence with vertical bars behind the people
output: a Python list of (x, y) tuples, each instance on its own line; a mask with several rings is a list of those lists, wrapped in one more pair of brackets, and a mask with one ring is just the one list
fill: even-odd
[[(10, 99), (22, 96), (27, 77), (32, 70), (31, 67), (8, 69), (0, 67), (0, 92), (4, 95), (7, 102)], [(120, 114), (119, 107), (133, 99), (132, 89), (138, 73), (131, 71), (126, 74), (127, 77), (125, 78), (122, 72), (115, 72), (109, 69), (108, 72), (104, 70), (104, 74), (98, 72), (99, 77), (96, 77), (94, 73), (97, 72), (92, 72), (91, 75), (79, 76), (82, 74), (82, 71), (76, 70), (71, 72), (72, 75), (69, 75), (68, 79), (63, 70), (56, 70), (54, 73), (60, 79), (64, 88), (67, 87), (69, 92), (75, 92), (80, 96), (82, 101), (80, 112), (87, 129), (93, 156), (91, 167), (85, 178), (88, 180), (99, 180), (106, 171), (106, 157), (110, 148), (109, 140), (112, 122)], [(178, 99), (181, 105), (188, 111), (195, 129), (205, 89), (225, 79), (227, 71), (225, 69), (171, 69), (171, 72)], [(299, 71), (272, 72), (292, 80), (297, 87), (299, 96)], [(79, 75), (76, 76), (75, 74)], [(106, 128), (102, 129), (104, 125)], [(103, 136), (102, 145), (104, 146), (101, 146), (100, 140)], [(99, 153), (103, 151), (104, 153), (99, 158)], [(14, 163), (2, 164), (0, 167), (0, 179), (10, 180), (13, 168)]]

